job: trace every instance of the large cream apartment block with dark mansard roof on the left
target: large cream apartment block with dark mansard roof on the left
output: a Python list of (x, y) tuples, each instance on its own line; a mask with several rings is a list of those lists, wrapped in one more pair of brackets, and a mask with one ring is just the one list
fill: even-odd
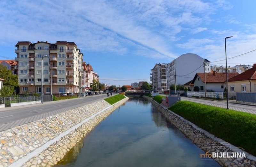
[(83, 53), (74, 42), (19, 41), (15, 47), (21, 94), (80, 93)]

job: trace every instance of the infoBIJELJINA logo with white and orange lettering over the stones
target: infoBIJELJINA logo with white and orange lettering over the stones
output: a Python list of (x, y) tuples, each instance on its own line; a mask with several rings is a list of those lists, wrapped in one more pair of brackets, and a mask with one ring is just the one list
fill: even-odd
[[(220, 160), (243, 159), (246, 158), (243, 148), (233, 147), (227, 142), (220, 144), (212, 144), (209, 147), (203, 147), (205, 153), (199, 153), (199, 158), (202, 160), (210, 160), (209, 158), (219, 158)], [(231, 151), (232, 150), (232, 151)], [(213, 159), (212, 159), (213, 160)]]

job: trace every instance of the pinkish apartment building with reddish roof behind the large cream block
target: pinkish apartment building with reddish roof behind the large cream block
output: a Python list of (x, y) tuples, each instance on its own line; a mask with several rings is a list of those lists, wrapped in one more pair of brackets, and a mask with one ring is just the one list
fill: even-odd
[(91, 64), (86, 64), (86, 62), (83, 62), (83, 91), (89, 91), (91, 89), (91, 84), (93, 83), (93, 79), (99, 81), (98, 73), (93, 71)]

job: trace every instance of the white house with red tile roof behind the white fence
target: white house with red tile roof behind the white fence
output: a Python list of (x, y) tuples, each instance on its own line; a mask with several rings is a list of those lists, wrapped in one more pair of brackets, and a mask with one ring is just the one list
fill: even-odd
[[(228, 79), (237, 76), (238, 74), (239, 73), (237, 72), (229, 72)], [(217, 73), (213, 71), (210, 73), (205, 73), (205, 76), (204, 73), (196, 73), (193, 81), (190, 84), (194, 84), (194, 87), (198, 86), (200, 91), (204, 91), (205, 83), (206, 91), (212, 90), (215, 92), (224, 92), (224, 89), (226, 88), (226, 73)]]

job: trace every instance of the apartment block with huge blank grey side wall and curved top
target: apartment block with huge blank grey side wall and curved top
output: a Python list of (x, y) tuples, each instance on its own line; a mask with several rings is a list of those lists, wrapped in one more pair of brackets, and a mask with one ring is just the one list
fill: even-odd
[(211, 62), (197, 54), (182, 54), (167, 64), (167, 90), (171, 84), (184, 84), (192, 80), (196, 73), (211, 71)]

